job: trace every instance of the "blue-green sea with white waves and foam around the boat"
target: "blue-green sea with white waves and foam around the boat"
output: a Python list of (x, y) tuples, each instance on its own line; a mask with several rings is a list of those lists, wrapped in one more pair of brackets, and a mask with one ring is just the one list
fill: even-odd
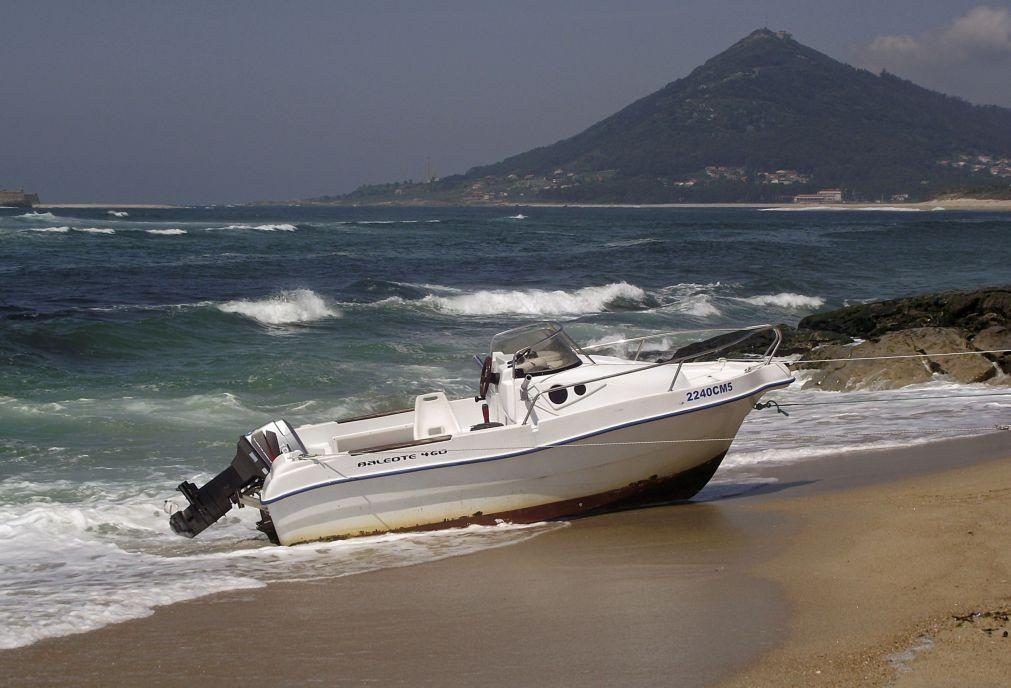
[[(496, 331), (583, 342), (796, 323), (1011, 282), (1011, 215), (751, 209), (193, 207), (0, 210), (0, 649), (197, 594), (499, 547), (558, 524), (270, 547), (234, 510), (176, 537), (166, 501), (241, 433), (473, 394)], [(673, 337), (676, 339), (677, 337)], [(975, 433), (1011, 398), (938, 379), (790, 389), (717, 474)], [(901, 401), (932, 396), (933, 399)], [(865, 399), (867, 403), (838, 404)]]

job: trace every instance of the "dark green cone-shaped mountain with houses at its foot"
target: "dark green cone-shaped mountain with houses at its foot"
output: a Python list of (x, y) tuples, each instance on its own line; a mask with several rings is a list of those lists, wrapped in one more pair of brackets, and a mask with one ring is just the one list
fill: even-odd
[(571, 138), (340, 200), (780, 201), (822, 188), (855, 200), (1008, 195), (1011, 110), (875, 75), (760, 29)]

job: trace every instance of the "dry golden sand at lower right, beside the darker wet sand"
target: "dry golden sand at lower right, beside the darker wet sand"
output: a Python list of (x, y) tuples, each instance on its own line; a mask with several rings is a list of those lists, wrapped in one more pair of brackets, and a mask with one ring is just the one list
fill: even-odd
[(1011, 458), (937, 470), (923, 455), (937, 472), (759, 507), (801, 523), (752, 569), (784, 591), (788, 634), (721, 686), (1009, 685)]

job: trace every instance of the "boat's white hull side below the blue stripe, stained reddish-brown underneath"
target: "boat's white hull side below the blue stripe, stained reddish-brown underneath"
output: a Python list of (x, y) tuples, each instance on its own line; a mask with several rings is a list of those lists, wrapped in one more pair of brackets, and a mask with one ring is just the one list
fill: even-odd
[(278, 540), (293, 545), (687, 499), (712, 478), (760, 393), (547, 447), (529, 430), (529, 451), (338, 480), (267, 508)]

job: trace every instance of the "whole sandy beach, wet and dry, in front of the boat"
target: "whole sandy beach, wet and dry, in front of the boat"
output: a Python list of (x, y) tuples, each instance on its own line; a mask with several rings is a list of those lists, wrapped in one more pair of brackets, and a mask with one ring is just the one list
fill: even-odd
[(951, 618), (1011, 605), (1001, 457), (1011, 433), (770, 467), (760, 487), (728, 471), (696, 503), (0, 652), (3, 684), (1005, 685), (999, 615)]

